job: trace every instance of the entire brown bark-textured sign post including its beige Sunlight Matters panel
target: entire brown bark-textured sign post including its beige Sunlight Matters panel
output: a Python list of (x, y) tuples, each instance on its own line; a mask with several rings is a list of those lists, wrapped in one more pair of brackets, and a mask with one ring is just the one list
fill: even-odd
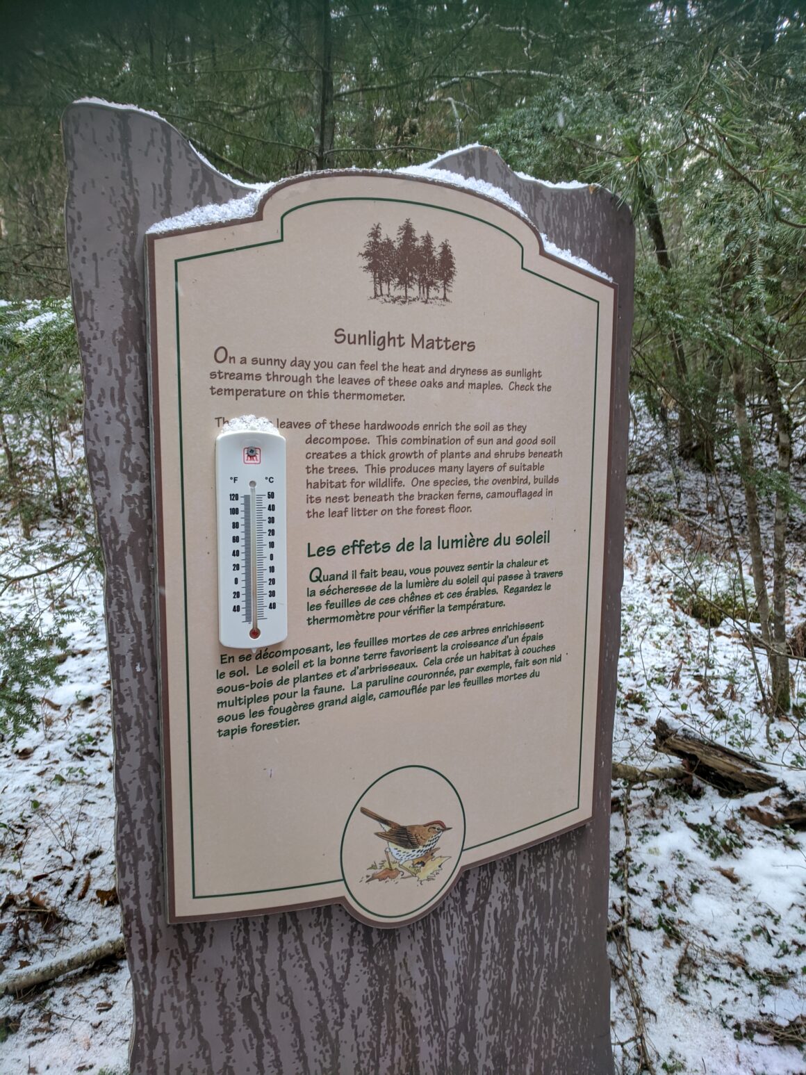
[(610, 1072), (629, 214), (63, 127), (132, 1071)]

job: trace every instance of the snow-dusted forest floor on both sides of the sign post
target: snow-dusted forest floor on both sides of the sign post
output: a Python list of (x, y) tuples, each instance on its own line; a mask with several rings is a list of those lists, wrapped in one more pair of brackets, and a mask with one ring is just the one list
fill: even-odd
[[(766, 679), (766, 662), (745, 641), (725, 521), (728, 505), (743, 543), (737, 481), (726, 464), (715, 476), (682, 467), (676, 487), (661, 429), (636, 410), (614, 760), (638, 773), (676, 764), (654, 747), (653, 726), (662, 718), (765, 762), (778, 787), (726, 796), (696, 776), (614, 782), (608, 933), (616, 1070), (806, 1075), (806, 833), (762, 823), (787, 792), (802, 797), (806, 787), (804, 664), (793, 662), (792, 718), (768, 725), (757, 678), (758, 664)], [(796, 443), (801, 489), (804, 450)], [(796, 507), (790, 626), (806, 618), (804, 533)], [(8, 570), (2, 555), (0, 569)], [(49, 577), (48, 586), (56, 580)], [(0, 600), (21, 608), (45, 598), (39, 580), (6, 589)], [(120, 930), (100, 578), (85, 575), (62, 600), (70, 640), (64, 682), (47, 691), (39, 727), (0, 744), (6, 971)], [(715, 605), (728, 613), (720, 622)], [(125, 962), (5, 997), (0, 1075), (121, 1075), (130, 1030)]]

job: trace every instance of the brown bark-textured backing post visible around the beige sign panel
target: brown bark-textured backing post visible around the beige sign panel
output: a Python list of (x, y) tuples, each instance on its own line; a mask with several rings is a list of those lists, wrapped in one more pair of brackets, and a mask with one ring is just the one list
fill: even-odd
[(85, 435), (106, 564), (118, 891), (132, 974), (132, 1075), (609, 1075), (610, 735), (619, 642), (632, 315), (629, 213), (604, 191), (490, 178), (620, 285), (605, 651), (591, 825), (469, 871), (429, 916), (376, 930), (341, 907), (169, 927), (164, 918), (142, 245), (157, 219), (243, 188), (169, 124), (68, 109), (67, 238)]

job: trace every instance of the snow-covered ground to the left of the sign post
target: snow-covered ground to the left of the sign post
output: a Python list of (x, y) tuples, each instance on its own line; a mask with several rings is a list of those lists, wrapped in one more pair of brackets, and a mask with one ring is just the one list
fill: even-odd
[[(19, 599), (19, 591), (15, 594)], [(8, 592), (6, 592), (8, 597)], [(120, 932), (110, 679), (100, 578), (66, 625), (64, 683), (40, 727), (0, 747), (0, 959), (6, 971)], [(0, 1001), (0, 1073), (126, 1072), (129, 975), (110, 962)]]

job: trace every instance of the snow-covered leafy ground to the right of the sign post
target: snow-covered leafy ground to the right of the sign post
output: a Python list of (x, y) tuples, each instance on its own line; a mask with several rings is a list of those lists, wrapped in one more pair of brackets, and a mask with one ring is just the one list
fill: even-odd
[[(794, 718), (774, 721), (769, 745), (757, 673), (742, 639), (747, 625), (725, 619), (708, 628), (685, 612), (696, 587), (710, 600), (740, 592), (724, 512), (726, 502), (742, 542), (737, 482), (721, 468), (710, 478), (685, 468), (678, 511), (660, 430), (639, 408), (638, 416), (614, 760), (639, 770), (674, 764), (653, 747), (652, 726), (663, 718), (766, 762), (802, 797), (806, 720), (801, 728)], [(802, 477), (798, 468), (798, 484)], [(659, 514), (666, 521), (650, 521)], [(767, 528), (771, 522), (767, 517)], [(795, 512), (793, 529), (802, 524)], [(790, 541), (788, 567), (794, 625), (805, 615), (800, 541)], [(745, 573), (749, 579), (747, 564)], [(760, 649), (757, 659), (765, 677)], [(806, 700), (803, 668), (792, 664), (800, 705)], [(643, 1031), (657, 1072), (806, 1072), (806, 1056), (785, 1044), (806, 1042), (806, 835), (766, 828), (744, 813), (775, 793), (728, 797), (696, 778), (688, 786), (614, 782), (609, 933), (617, 1071), (641, 1070), (635, 1038)]]

